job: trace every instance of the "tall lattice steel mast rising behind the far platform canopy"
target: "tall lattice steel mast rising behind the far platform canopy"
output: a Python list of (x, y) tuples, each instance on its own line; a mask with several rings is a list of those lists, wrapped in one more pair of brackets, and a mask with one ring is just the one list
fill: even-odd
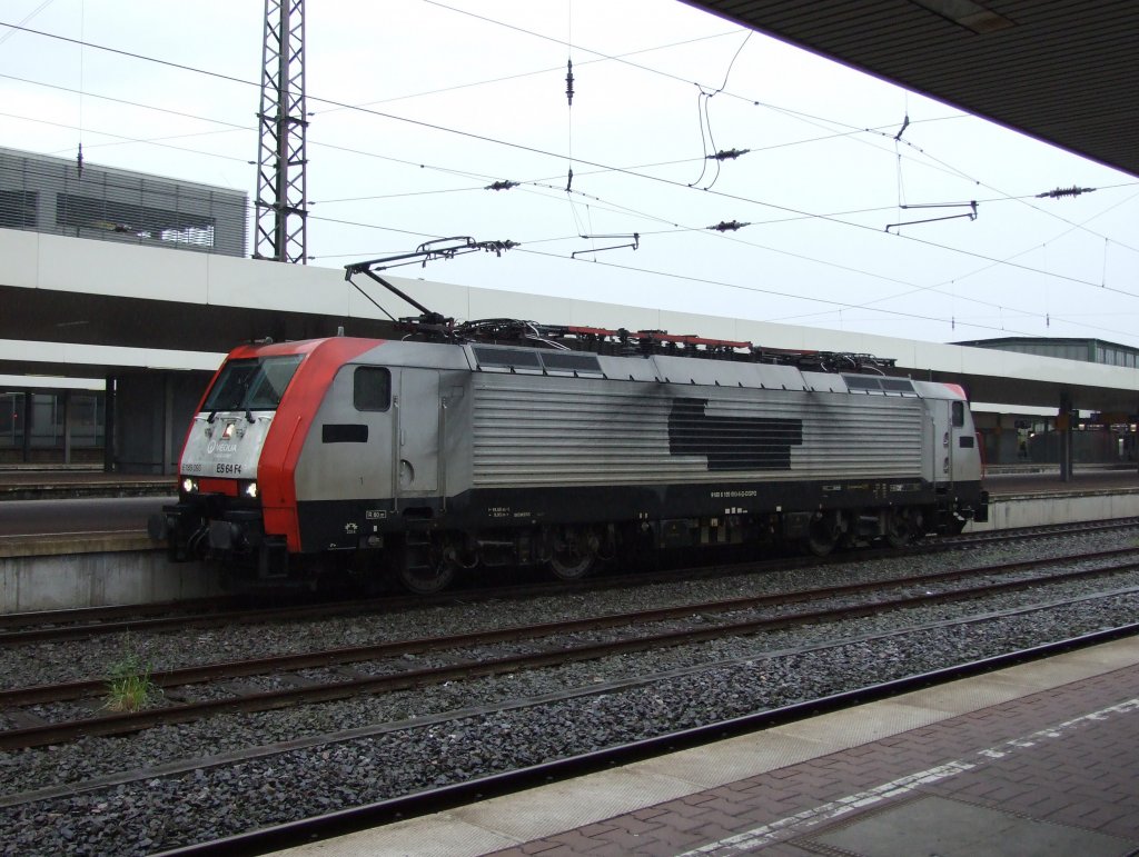
[(304, 0), (265, 0), (254, 258), (305, 264)]

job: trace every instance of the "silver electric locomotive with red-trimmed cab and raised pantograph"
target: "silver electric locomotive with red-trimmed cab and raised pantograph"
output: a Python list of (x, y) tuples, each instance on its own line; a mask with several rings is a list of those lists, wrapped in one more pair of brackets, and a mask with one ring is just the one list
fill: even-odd
[(964, 392), (890, 361), (439, 322), (236, 348), (151, 534), (236, 577), (390, 571), (428, 593), (487, 566), (572, 579), (646, 550), (825, 554), (986, 518)]

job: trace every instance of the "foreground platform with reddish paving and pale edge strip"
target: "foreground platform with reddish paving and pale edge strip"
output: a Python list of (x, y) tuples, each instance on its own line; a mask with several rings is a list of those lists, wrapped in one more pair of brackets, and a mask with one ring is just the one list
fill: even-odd
[(1139, 638), (280, 851), (1139, 854)]

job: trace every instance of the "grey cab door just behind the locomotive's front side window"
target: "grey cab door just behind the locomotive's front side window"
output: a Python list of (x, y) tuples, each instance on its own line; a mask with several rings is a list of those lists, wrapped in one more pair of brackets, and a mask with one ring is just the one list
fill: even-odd
[(395, 495), (420, 497), (439, 491), (439, 372), (399, 370), (395, 396)]

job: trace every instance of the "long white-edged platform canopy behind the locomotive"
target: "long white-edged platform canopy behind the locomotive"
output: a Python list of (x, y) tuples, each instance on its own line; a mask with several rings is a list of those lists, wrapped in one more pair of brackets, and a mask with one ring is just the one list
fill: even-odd
[[(103, 378), (138, 369), (208, 370), (236, 344), (335, 336), (390, 337), (417, 311), (344, 272), (311, 265), (130, 247), (0, 230), (0, 374)], [(1139, 413), (1139, 370), (853, 331), (694, 315), (564, 297), (388, 278), (457, 320), (667, 330), (765, 348), (893, 360), (899, 374), (960, 384), (974, 401)], [(375, 300), (375, 303), (374, 303)], [(377, 306), (378, 304), (378, 306)], [(383, 307), (383, 310), (380, 308)], [(14, 336), (17, 335), (17, 336)]]

